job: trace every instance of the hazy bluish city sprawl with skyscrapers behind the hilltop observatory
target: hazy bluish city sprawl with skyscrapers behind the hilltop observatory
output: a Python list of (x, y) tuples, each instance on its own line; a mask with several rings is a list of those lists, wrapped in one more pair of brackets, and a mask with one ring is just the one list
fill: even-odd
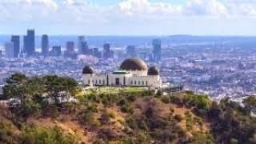
[(136, 57), (149, 66), (158, 66), (163, 82), (182, 85), (198, 94), (239, 98), (256, 92), (256, 49), (214, 42), (175, 44), (158, 37), (144, 45), (106, 42), (97, 47), (91, 46), (85, 36), (67, 39), (65, 46), (50, 46), (50, 40), (43, 34), (37, 47), (34, 30), (27, 30), (23, 37), (13, 35), (9, 42), (0, 43), (0, 85), (16, 72), (27, 76), (58, 74), (82, 83), (86, 65), (106, 74), (118, 70), (126, 58)]

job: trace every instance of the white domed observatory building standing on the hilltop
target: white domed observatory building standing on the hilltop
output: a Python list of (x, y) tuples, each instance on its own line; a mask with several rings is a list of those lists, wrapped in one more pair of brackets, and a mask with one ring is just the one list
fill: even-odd
[(156, 67), (148, 69), (139, 58), (126, 59), (112, 74), (95, 74), (91, 66), (85, 66), (82, 82), (85, 86), (162, 86), (159, 70)]

